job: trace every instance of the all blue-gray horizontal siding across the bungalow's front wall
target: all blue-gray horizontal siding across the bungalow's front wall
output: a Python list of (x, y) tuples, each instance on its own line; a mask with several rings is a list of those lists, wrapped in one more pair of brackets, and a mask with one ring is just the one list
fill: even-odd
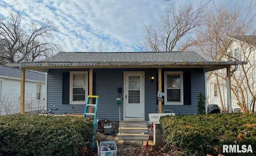
[[(56, 105), (56, 114), (71, 112), (74, 114), (72, 105), (77, 113), (84, 113), (85, 104), (62, 104), (62, 73), (70, 71), (88, 71), (88, 69), (51, 69), (48, 73), (48, 92), (47, 109)], [(122, 87), (122, 96), (124, 98), (124, 71), (144, 71), (145, 73), (145, 120), (148, 121), (148, 114), (154, 113), (156, 108), (158, 112), (158, 69), (157, 68), (134, 68), (134, 69), (93, 69), (95, 72), (96, 95), (98, 101), (98, 118), (110, 121), (119, 121), (119, 106), (116, 104), (118, 97), (118, 88)], [(172, 110), (175, 114), (196, 114), (197, 96), (199, 92), (204, 92), (204, 73), (203, 70), (193, 68), (168, 69), (164, 71), (183, 71), (191, 72), (191, 105), (162, 105), (162, 110)], [(154, 76), (154, 82), (151, 77)], [(163, 85), (163, 84), (162, 84)], [(121, 120), (123, 120), (123, 101), (120, 106)]]

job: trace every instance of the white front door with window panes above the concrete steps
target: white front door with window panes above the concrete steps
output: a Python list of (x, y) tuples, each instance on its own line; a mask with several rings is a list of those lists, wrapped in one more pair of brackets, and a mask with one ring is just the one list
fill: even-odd
[(124, 120), (144, 118), (144, 72), (124, 72)]

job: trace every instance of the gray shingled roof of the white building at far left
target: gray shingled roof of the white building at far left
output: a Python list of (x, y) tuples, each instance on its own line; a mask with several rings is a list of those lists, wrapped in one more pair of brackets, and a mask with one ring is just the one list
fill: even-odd
[[(0, 78), (1, 78), (1, 76), (6, 76), (6, 77), (10, 77), (10, 78), (20, 78), (20, 71), (21, 70), (17, 69), (17, 68), (0, 65)], [(26, 70), (25, 79), (26, 80), (36, 80), (36, 81), (45, 81), (45, 75)]]

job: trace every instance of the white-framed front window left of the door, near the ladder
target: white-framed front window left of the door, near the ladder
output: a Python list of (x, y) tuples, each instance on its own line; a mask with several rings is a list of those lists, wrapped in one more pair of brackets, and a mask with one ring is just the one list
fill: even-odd
[(87, 73), (70, 72), (70, 103), (85, 104), (87, 97)]

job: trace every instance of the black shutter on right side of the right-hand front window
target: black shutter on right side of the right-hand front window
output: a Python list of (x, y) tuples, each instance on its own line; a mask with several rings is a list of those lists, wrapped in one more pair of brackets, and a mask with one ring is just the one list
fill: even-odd
[(184, 96), (184, 105), (191, 105), (191, 73), (183, 73), (183, 96)]

